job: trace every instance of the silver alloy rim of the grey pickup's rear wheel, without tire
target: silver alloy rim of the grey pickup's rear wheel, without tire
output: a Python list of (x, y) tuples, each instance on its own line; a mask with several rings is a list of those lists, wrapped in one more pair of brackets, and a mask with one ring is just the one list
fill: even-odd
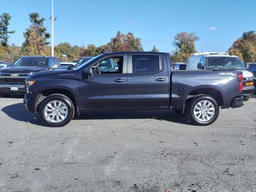
[(194, 115), (199, 121), (208, 121), (212, 119), (215, 113), (214, 105), (210, 101), (200, 101), (194, 106)]

